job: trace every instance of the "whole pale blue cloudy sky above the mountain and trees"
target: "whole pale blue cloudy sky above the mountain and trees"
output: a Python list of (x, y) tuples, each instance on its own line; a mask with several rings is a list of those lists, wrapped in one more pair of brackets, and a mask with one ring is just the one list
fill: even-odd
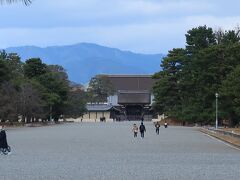
[(34, 0), (0, 5), (0, 48), (80, 42), (138, 53), (185, 46), (200, 25), (234, 29), (239, 0)]

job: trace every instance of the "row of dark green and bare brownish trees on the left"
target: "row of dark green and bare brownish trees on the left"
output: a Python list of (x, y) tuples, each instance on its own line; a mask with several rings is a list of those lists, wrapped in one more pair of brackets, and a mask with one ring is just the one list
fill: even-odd
[(63, 67), (1, 51), (0, 97), (1, 122), (29, 123), (80, 117), (88, 96)]

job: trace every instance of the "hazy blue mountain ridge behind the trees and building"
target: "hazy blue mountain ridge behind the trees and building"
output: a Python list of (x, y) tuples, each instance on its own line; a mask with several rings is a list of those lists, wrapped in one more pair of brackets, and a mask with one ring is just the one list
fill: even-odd
[(6, 51), (18, 53), (23, 60), (39, 57), (46, 64), (62, 65), (71, 81), (83, 84), (96, 74), (153, 74), (163, 58), (162, 54), (138, 54), (90, 43), (10, 47)]

